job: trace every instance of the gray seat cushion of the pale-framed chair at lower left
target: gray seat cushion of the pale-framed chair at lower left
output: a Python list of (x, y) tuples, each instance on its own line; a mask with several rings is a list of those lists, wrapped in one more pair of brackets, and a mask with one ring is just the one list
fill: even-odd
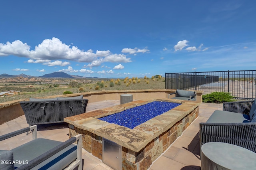
[[(13, 151), (13, 158), (14, 160), (20, 161), (30, 161), (41, 154), (44, 154), (48, 150), (58, 146), (62, 142), (49, 140), (44, 138), (37, 138), (26, 144), (18, 146), (17, 148), (12, 149)], [(42, 169), (63, 169), (68, 166), (73, 160), (77, 158), (77, 147), (76, 145), (72, 144), (61, 150), (60, 152), (56, 153), (54, 156), (48, 158), (44, 162), (38, 164), (32, 169), (39, 170)], [(15, 164), (15, 167), (20, 167), (22, 164)]]

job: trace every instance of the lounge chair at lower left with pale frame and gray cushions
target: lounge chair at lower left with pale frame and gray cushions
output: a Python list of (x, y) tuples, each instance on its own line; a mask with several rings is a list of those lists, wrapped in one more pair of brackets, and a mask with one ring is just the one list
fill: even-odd
[[(36, 125), (0, 136), (0, 141), (33, 131), (33, 140), (12, 150), (0, 150), (0, 164), (4, 170), (67, 169), (82, 170), (82, 135), (78, 134), (65, 142), (37, 138)], [(77, 142), (77, 145), (73, 144)]]

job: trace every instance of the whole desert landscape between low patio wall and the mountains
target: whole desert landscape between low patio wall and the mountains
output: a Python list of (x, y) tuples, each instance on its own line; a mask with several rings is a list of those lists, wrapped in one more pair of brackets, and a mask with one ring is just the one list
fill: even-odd
[(30, 97), (40, 98), (68, 93), (82, 93), (104, 90), (165, 89), (165, 79), (152, 77), (108, 78), (42, 78), (7, 77), (0, 79), (0, 92), (18, 91), (17, 95), (0, 97), (0, 103)]

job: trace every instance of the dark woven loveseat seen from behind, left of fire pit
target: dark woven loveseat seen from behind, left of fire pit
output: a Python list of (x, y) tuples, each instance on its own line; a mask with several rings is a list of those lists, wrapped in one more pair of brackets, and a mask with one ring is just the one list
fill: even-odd
[(85, 113), (88, 99), (83, 95), (58, 97), (54, 99), (34, 99), (21, 101), (28, 125), (63, 123), (65, 117)]

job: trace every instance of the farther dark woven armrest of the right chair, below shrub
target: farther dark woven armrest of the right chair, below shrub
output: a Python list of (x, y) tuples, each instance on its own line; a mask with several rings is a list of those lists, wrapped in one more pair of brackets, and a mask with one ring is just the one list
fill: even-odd
[(223, 103), (223, 111), (249, 115), (253, 102), (254, 101), (235, 101), (235, 102)]

